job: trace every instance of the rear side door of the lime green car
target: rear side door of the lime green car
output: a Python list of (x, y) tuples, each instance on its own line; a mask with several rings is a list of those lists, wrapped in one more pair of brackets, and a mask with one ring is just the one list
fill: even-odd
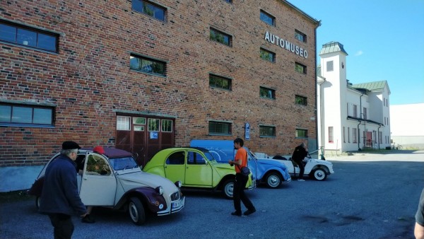
[(167, 156), (165, 160), (165, 165), (163, 165), (165, 170), (165, 177), (172, 182), (181, 181), (182, 185), (186, 185), (185, 182), (185, 151), (179, 150), (172, 152)]

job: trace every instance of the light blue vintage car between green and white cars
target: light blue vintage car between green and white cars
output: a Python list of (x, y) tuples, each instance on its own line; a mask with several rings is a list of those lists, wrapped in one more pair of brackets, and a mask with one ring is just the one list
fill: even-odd
[[(207, 148), (218, 163), (228, 163), (230, 159), (234, 159), (237, 152), (232, 140), (193, 139), (190, 146)], [(283, 182), (291, 181), (284, 163), (273, 159), (258, 159), (249, 151), (249, 148), (246, 148), (246, 150), (249, 158), (249, 169), (257, 184), (261, 183), (270, 188), (277, 188)]]

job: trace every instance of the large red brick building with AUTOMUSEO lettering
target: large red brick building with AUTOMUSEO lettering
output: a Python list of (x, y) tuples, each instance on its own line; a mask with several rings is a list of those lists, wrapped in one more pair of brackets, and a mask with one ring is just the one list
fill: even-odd
[(2, 1), (0, 168), (65, 140), (141, 165), (192, 139), (316, 147), (318, 26), (281, 0)]

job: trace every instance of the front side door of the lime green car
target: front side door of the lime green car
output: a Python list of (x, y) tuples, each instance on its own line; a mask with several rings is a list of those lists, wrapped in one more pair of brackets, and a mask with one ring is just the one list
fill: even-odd
[(206, 156), (187, 151), (185, 182), (193, 187), (212, 187), (212, 166)]

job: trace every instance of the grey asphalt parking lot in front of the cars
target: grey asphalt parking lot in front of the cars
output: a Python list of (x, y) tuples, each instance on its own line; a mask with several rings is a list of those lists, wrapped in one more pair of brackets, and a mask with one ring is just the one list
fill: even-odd
[[(135, 226), (124, 212), (95, 208), (96, 223), (74, 217), (73, 238), (413, 238), (414, 214), (424, 187), (424, 151), (355, 153), (326, 157), (326, 181), (284, 183), (247, 192), (257, 208), (231, 216), (219, 193), (184, 191), (178, 214)], [(34, 201), (1, 204), (0, 238), (52, 238)]]

